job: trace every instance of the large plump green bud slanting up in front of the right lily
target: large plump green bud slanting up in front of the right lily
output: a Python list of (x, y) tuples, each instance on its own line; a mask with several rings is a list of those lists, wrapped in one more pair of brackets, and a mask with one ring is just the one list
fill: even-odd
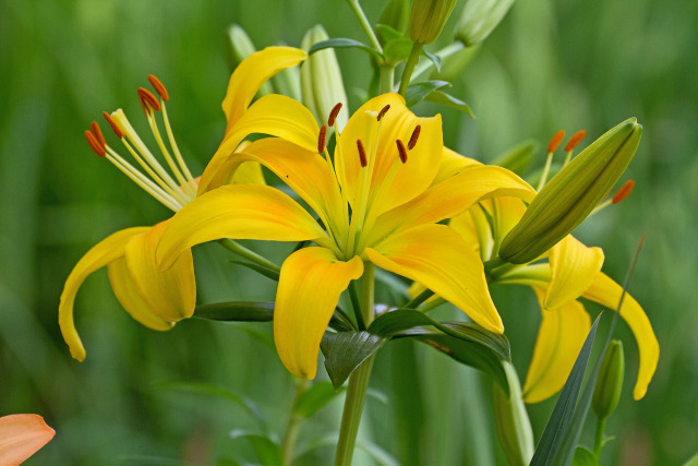
[(502, 241), (500, 258), (531, 262), (577, 228), (618, 181), (641, 135), (642, 127), (630, 118), (585, 148), (541, 189)]

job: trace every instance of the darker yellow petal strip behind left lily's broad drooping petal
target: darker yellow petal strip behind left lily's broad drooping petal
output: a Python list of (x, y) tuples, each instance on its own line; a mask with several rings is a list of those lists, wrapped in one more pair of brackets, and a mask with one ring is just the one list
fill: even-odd
[(143, 300), (141, 292), (133, 283), (129, 273), (127, 260), (121, 258), (107, 265), (111, 289), (121, 303), (121, 307), (142, 325), (156, 330), (168, 331), (174, 323), (167, 322), (153, 313), (151, 306)]

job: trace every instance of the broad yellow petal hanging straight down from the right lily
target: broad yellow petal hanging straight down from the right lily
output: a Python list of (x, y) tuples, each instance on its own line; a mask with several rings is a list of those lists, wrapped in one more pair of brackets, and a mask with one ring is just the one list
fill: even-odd
[(580, 302), (543, 309), (545, 291), (533, 290), (541, 304), (543, 321), (524, 384), (526, 403), (547, 399), (563, 387), (591, 328), (591, 319)]

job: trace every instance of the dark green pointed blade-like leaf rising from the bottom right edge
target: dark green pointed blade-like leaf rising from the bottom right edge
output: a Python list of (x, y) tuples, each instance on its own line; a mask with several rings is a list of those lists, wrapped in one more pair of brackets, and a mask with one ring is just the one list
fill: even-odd
[(541, 440), (535, 447), (535, 453), (533, 453), (533, 458), (531, 459), (531, 466), (551, 465), (557, 461), (558, 455), (566, 455), (566, 452), (563, 449), (563, 442), (565, 441), (565, 437), (573, 423), (577, 398), (579, 397), (581, 382), (585, 377), (585, 371), (587, 370), (587, 365), (589, 363), (591, 346), (593, 345), (593, 340), (597, 335), (600, 319), (601, 314), (599, 314), (597, 320), (593, 322), (593, 325), (587, 335), (587, 339), (579, 351), (579, 356), (577, 356), (577, 360), (571, 368), (571, 372), (569, 372), (565, 386), (563, 386), (559, 398), (557, 398), (557, 403), (555, 403), (553, 413), (550, 416), (550, 419), (547, 419)]

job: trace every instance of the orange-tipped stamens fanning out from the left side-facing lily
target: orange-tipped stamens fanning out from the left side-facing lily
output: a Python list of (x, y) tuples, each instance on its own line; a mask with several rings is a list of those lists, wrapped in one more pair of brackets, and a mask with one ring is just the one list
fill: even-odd
[[(163, 157), (167, 162), (167, 166), (173, 177), (143, 143), (121, 109), (118, 109), (112, 113), (107, 113), (105, 111), (104, 117), (113, 133), (123, 143), (128, 152), (133, 156), (145, 174), (127, 162), (107, 144), (97, 122), (93, 121), (91, 123), (89, 130), (85, 131), (85, 139), (87, 140), (89, 147), (98, 156), (107, 158), (143, 190), (153, 195), (168, 208), (177, 212), (196, 196), (197, 183), (186, 167), (179, 147), (174, 142), (172, 129), (165, 108), (165, 103), (169, 100), (167, 88), (154, 75), (149, 75), (148, 81), (159, 96), (159, 99), (149, 91), (139, 87), (139, 100), (151, 127), (151, 131), (153, 132), (160, 152), (163, 153)], [(173, 157), (160, 135), (158, 123), (155, 119), (155, 112), (161, 112), (163, 115), (167, 139), (171, 152), (174, 155)]]

